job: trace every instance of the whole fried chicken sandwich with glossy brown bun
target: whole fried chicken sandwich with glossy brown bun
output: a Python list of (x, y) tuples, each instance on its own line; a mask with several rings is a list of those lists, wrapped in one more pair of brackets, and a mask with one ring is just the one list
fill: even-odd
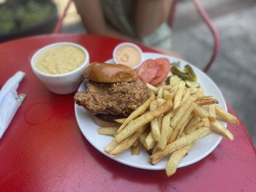
[(86, 93), (78, 91), (74, 101), (101, 126), (117, 126), (115, 119), (128, 117), (151, 94), (136, 72), (126, 65), (92, 63), (83, 76), (89, 79)]

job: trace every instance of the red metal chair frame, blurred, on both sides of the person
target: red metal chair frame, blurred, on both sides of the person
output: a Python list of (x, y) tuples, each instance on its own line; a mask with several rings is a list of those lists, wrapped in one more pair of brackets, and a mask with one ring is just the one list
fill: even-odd
[[(63, 20), (64, 20), (66, 14), (67, 14), (67, 11), (69, 9), (69, 6), (70, 6), (71, 2), (72, 2), (72, 0), (68, 0), (67, 6), (65, 7), (65, 10), (64, 10), (64, 12), (63, 12), (63, 14), (62, 14), (58, 24), (56, 25), (53, 33), (59, 33), (60, 32), (61, 25), (63, 23)], [(168, 23), (170, 24), (171, 27), (173, 26), (174, 13), (175, 13), (175, 8), (176, 8), (176, 5), (177, 5), (177, 2), (178, 2), (178, 0), (172, 0), (171, 13), (170, 13), (170, 16), (168, 18)], [(199, 4), (199, 2), (197, 0), (193, 0), (193, 2), (195, 4), (196, 9), (201, 14), (203, 20), (206, 22), (207, 26), (211, 30), (211, 32), (213, 34), (213, 37), (214, 37), (213, 53), (211, 55), (211, 58), (210, 58), (210, 60), (209, 60), (209, 62), (207, 64), (207, 66), (204, 69), (204, 72), (207, 72), (210, 69), (210, 67), (212, 66), (212, 64), (213, 64), (214, 60), (216, 59), (217, 54), (219, 52), (219, 34), (218, 34), (216, 28), (211, 23), (211, 20), (210, 20), (210, 18), (208, 16), (207, 12), (203, 9), (203, 7)]]

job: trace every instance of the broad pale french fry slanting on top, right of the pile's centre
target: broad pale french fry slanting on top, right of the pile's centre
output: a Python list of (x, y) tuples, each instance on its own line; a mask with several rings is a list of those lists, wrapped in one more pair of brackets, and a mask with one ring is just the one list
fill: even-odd
[(192, 105), (192, 103), (195, 101), (195, 99), (196, 99), (195, 97), (188, 98), (185, 101), (185, 103), (178, 108), (177, 112), (175, 113), (175, 115), (173, 116), (173, 118), (170, 121), (170, 125), (172, 128), (176, 127), (178, 122), (182, 119), (186, 110)]

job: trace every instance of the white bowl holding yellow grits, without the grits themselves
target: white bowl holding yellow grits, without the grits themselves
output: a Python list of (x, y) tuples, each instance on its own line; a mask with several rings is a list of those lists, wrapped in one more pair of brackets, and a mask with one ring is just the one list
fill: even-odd
[[(85, 53), (85, 61), (82, 63), (80, 67), (77, 69), (63, 73), (63, 74), (48, 74), (45, 72), (41, 72), (36, 68), (36, 62), (38, 57), (51, 48), (58, 48), (63, 46), (73, 46), (75, 48), (81, 49)], [(89, 53), (88, 51), (75, 43), (71, 42), (61, 42), (50, 44), (46, 47), (40, 48), (31, 58), (30, 64), (33, 72), (37, 75), (37, 77), (47, 86), (47, 88), (56, 94), (66, 95), (71, 94), (77, 91), (79, 85), (83, 81), (82, 72), (85, 70), (87, 65), (89, 64)]]

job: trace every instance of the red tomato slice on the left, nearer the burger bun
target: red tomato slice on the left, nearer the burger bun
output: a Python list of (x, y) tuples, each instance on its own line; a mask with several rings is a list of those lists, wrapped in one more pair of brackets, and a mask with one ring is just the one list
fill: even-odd
[(145, 60), (135, 71), (143, 84), (149, 83), (157, 75), (157, 63), (154, 60)]

